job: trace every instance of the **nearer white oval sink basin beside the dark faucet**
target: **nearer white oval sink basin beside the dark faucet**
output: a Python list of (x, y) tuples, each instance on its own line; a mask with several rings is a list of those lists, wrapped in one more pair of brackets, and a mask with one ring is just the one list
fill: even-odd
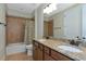
[(69, 51), (69, 52), (83, 52), (82, 50), (71, 47), (71, 46), (59, 46), (58, 48)]

